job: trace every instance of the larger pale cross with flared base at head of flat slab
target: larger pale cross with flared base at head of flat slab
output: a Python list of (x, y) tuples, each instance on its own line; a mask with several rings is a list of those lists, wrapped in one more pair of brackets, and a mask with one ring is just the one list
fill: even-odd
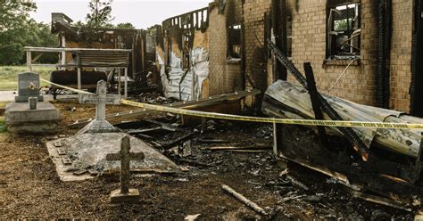
[(119, 94), (107, 94), (107, 82), (97, 82), (96, 94), (79, 94), (79, 103), (95, 104), (95, 120), (82, 128), (79, 133), (111, 133), (118, 130), (105, 120), (106, 104), (120, 104)]

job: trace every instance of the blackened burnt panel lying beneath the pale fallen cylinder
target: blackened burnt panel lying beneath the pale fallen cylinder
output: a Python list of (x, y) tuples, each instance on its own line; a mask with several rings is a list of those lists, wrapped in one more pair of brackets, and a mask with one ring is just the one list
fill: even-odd
[[(373, 154), (375, 149), (369, 150), (372, 154), (369, 161), (354, 160), (351, 151), (343, 151), (343, 142), (334, 142), (336, 136), (329, 136), (330, 144), (324, 146), (311, 128), (279, 126), (276, 131), (278, 142), (275, 143), (278, 160), (299, 164), (329, 176), (329, 184), (340, 185), (361, 200), (406, 211), (419, 209), (423, 188), (419, 184), (412, 184), (413, 181), (398, 178), (413, 172), (418, 177), (419, 168), (380, 158), (379, 154)], [(391, 160), (398, 158), (397, 154), (393, 155)], [(290, 167), (291, 164), (287, 165)]]

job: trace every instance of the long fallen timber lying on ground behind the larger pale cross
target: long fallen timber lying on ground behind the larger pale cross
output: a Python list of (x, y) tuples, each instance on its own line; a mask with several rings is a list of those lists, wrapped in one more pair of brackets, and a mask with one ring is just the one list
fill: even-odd
[[(215, 104), (218, 104), (218, 103), (221, 103), (221, 102), (224, 102), (224, 101), (234, 101), (234, 100), (241, 99), (245, 96), (256, 95), (256, 94), (260, 94), (260, 90), (247, 90), (247, 91), (239, 91), (239, 92), (233, 92), (233, 93), (228, 93), (228, 94), (220, 94), (220, 95), (214, 95), (214, 96), (210, 96), (208, 98), (198, 99), (198, 100), (194, 100), (194, 101), (170, 103), (170, 104), (167, 104), (167, 105), (164, 105), (164, 106), (174, 107), (174, 108), (183, 108), (183, 109), (196, 109), (196, 108), (215, 105)], [(105, 119), (110, 120), (110, 119), (118, 119), (118, 118), (122, 118), (122, 117), (135, 117), (135, 116), (142, 116), (142, 115), (146, 115), (146, 114), (151, 114), (151, 113), (154, 113), (154, 112), (155, 111), (153, 111), (153, 110), (146, 110), (146, 109), (137, 109), (137, 110), (133, 110), (133, 111), (122, 111), (122, 112), (119, 112), (119, 113), (107, 114), (105, 116)], [(90, 123), (92, 120), (93, 119), (79, 119), (79, 120), (71, 123), (68, 127), (71, 127), (71, 128), (84, 127), (88, 123)]]

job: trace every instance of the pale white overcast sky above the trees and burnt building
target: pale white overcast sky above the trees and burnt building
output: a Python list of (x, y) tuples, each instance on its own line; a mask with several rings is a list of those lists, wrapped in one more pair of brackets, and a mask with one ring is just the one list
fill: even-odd
[[(34, 0), (37, 12), (31, 17), (49, 23), (52, 12), (63, 12), (72, 20), (85, 20), (89, 0)], [(130, 22), (137, 29), (146, 29), (163, 20), (185, 12), (206, 7), (212, 0), (114, 0), (113, 24)]]

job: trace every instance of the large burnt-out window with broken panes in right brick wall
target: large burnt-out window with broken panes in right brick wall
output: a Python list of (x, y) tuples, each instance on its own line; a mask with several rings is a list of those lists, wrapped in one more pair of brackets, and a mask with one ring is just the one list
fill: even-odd
[(328, 58), (360, 56), (360, 4), (343, 4), (328, 9)]

